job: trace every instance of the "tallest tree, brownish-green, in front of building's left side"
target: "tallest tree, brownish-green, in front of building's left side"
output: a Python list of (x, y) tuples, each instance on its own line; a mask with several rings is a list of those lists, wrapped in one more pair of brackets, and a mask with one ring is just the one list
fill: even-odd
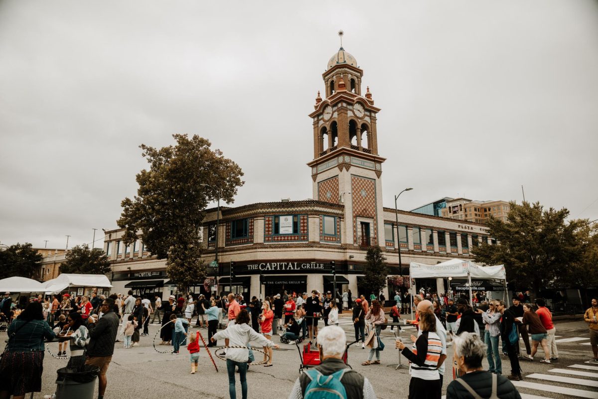
[(149, 170), (137, 174), (137, 195), (123, 199), (117, 223), (126, 229), (125, 244), (141, 232), (145, 248), (166, 259), (168, 277), (185, 291), (205, 278), (200, 229), (208, 202), (220, 197), (231, 204), (244, 182), (239, 165), (210, 149), (209, 140), (187, 134), (173, 137), (175, 146), (139, 146)]

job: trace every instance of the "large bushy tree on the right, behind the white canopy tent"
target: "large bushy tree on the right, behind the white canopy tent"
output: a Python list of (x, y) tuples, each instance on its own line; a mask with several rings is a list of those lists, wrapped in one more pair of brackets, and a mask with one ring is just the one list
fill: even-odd
[(575, 235), (579, 221), (566, 222), (569, 211), (555, 210), (535, 202), (511, 202), (507, 222), (490, 217), (490, 237), (498, 245), (482, 243), (472, 248), (475, 261), (496, 265), (504, 263), (507, 280), (520, 289), (531, 287), (538, 294), (579, 256)]

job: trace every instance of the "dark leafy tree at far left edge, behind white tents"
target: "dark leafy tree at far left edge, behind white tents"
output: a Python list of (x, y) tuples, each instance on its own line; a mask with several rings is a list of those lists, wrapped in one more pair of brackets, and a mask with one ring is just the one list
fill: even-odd
[(0, 279), (7, 277), (32, 278), (44, 259), (29, 243), (14, 244), (0, 251)]

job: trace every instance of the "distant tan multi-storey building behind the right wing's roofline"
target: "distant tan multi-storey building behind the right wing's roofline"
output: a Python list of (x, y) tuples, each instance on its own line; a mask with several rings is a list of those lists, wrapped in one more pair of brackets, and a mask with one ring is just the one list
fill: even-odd
[(511, 209), (508, 201), (472, 201), (468, 198), (454, 198), (446, 201), (441, 210), (442, 217), (459, 219), (466, 222), (487, 223), (490, 216), (507, 221)]

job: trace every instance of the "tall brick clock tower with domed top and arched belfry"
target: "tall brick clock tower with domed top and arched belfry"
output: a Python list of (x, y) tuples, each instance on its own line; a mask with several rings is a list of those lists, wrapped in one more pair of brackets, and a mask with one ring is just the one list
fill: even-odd
[[(339, 32), (342, 35), (342, 32)], [(318, 91), (313, 121), (313, 198), (344, 205), (342, 243), (384, 247), (382, 163), (377, 113), (363, 70), (342, 47), (328, 61), (324, 93)]]

